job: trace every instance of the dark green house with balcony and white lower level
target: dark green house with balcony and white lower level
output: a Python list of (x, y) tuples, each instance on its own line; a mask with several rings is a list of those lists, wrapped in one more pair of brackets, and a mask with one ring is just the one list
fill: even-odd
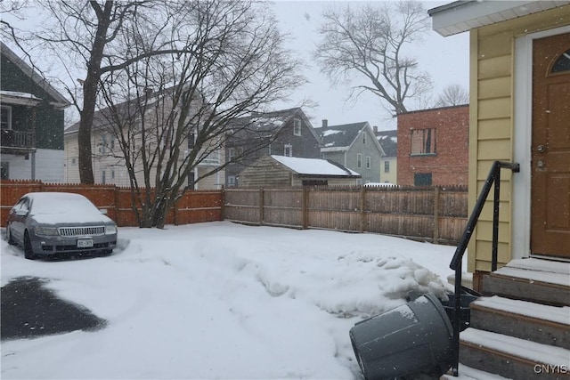
[(1, 179), (62, 182), (65, 99), (0, 42)]

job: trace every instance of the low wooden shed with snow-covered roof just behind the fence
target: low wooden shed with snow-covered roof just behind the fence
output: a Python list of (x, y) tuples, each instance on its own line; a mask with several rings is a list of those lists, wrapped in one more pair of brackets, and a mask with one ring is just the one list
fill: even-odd
[(241, 187), (351, 186), (360, 174), (321, 158), (265, 156), (240, 174)]

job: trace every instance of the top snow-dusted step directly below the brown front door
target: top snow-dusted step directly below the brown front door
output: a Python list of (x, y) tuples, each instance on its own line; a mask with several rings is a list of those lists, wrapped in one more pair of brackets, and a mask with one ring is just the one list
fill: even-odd
[(482, 293), (570, 306), (570, 263), (540, 259), (513, 260), (485, 276)]

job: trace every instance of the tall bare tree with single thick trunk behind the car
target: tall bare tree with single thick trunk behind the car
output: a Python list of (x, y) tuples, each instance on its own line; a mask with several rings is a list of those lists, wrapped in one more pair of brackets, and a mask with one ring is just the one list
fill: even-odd
[[(37, 2), (47, 11), (49, 20), (35, 34), (44, 42), (45, 51), (57, 55), (72, 77), (71, 83), (81, 85), (67, 87), (69, 95), (80, 115), (77, 140), (79, 143), (78, 167), (82, 183), (94, 183), (91, 131), (100, 85), (106, 75), (126, 69), (148, 56), (188, 53), (188, 46), (180, 44), (175, 34), (167, 38), (154, 38), (150, 48), (139, 55), (124, 55), (119, 38), (132, 24), (145, 20), (151, 30), (162, 30), (168, 20), (175, 17), (170, 12), (173, 4), (157, 0), (129, 1), (69, 1), (44, 0)], [(152, 22), (153, 21), (153, 22)], [(76, 65), (77, 67), (73, 67)], [(78, 74), (77, 74), (78, 73)], [(78, 76), (78, 77), (74, 77)]]

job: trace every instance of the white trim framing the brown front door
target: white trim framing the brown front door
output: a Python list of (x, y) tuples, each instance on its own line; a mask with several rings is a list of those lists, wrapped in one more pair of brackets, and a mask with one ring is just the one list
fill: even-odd
[(531, 150), (533, 143), (533, 40), (570, 32), (570, 26), (554, 28), (515, 39), (514, 68), (514, 162), (520, 173), (513, 175), (512, 259), (531, 254)]

